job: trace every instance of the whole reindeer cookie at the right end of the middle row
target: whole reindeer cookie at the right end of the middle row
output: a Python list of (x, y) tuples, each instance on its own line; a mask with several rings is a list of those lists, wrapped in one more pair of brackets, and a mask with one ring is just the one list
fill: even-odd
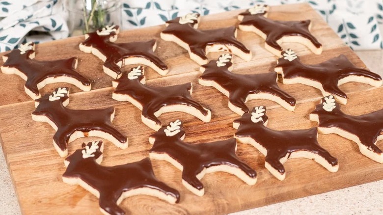
[(282, 76), (284, 84), (301, 83), (321, 90), (324, 96), (332, 94), (340, 104), (347, 103), (347, 95), (339, 85), (351, 81), (379, 87), (382, 78), (368, 70), (357, 68), (343, 54), (319, 64), (304, 64), (293, 50), (281, 53), (274, 71)]

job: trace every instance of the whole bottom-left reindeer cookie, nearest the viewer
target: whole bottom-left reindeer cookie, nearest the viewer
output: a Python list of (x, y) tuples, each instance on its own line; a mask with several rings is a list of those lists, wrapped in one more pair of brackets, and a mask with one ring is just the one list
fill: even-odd
[(65, 159), (66, 171), (62, 180), (70, 185), (80, 185), (97, 198), (100, 210), (107, 215), (124, 215), (118, 205), (134, 195), (150, 195), (174, 204), (180, 194), (154, 175), (149, 158), (118, 166), (102, 166), (102, 141), (82, 144)]

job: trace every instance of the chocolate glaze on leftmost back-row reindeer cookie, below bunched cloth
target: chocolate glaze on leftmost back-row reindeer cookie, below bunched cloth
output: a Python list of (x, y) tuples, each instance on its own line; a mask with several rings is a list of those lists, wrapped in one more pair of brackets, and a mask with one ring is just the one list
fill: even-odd
[[(31, 46), (34, 47), (34, 44), (31, 43)], [(15, 68), (23, 73), (27, 77), (25, 87), (37, 97), (40, 97), (37, 84), (47, 78), (66, 76), (80, 81), (84, 86), (90, 85), (89, 80), (74, 70), (77, 62), (76, 57), (54, 61), (38, 61), (32, 60), (34, 53), (33, 49), (27, 50), (25, 54), (21, 54), (19, 49), (14, 49), (9, 54), (4, 55), (7, 60), (2, 67)]]

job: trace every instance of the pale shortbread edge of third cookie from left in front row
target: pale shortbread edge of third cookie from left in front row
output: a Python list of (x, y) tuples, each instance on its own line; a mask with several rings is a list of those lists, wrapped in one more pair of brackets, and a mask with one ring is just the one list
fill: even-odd
[[(252, 146), (254, 146), (259, 152), (261, 152), (264, 156), (267, 156), (267, 150), (266, 148), (264, 148), (261, 144), (259, 144), (258, 142), (256, 142), (254, 139), (250, 138), (250, 137), (238, 137), (238, 136), (234, 136), (238, 141), (242, 142), (242, 143), (245, 143), (245, 144), (250, 144)], [(296, 152), (293, 152), (290, 154), (290, 157), (289, 155), (287, 154), (285, 157), (281, 158), (279, 160), (279, 162), (281, 162), (282, 164), (284, 164), (288, 159), (294, 159), (294, 158), (306, 158), (306, 159), (309, 159), (309, 160), (314, 160), (315, 162), (319, 163), (320, 165), (322, 165), (323, 167), (325, 167), (329, 172), (337, 172), (338, 171), (338, 168), (339, 168), (339, 165), (335, 165), (335, 166), (332, 166), (328, 161), (326, 161), (326, 159), (324, 159), (322, 156), (319, 156), (317, 154), (314, 154), (312, 152), (308, 152), (308, 151), (296, 151)], [(286, 177), (286, 171), (281, 174), (278, 172), (278, 170), (274, 169), (267, 161), (265, 162), (265, 167), (267, 170), (269, 170), (269, 172), (274, 175), (275, 178), (277, 178), (278, 180), (282, 181), (285, 179)]]

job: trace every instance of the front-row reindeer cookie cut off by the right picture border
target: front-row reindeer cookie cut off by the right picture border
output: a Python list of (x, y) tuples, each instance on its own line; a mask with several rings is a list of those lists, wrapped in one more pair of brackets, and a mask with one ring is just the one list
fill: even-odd
[(359, 146), (360, 153), (383, 163), (383, 152), (376, 146), (383, 139), (383, 109), (359, 116), (347, 115), (329, 95), (310, 113), (310, 120), (319, 123), (321, 133), (350, 139)]

